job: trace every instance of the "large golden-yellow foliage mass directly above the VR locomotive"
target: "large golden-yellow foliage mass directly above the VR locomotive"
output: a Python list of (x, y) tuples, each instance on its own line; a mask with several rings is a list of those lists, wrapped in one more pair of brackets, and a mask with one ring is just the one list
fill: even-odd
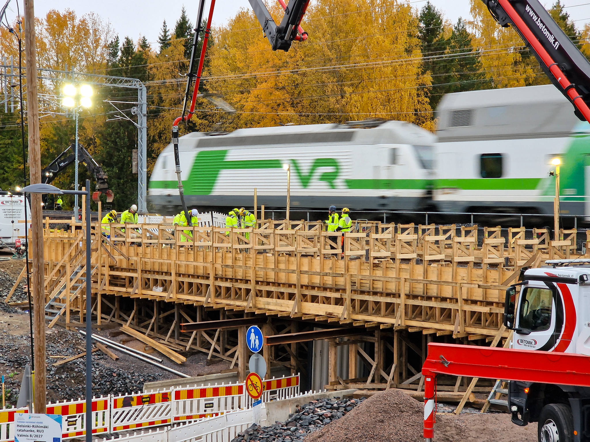
[(433, 128), (408, 4), (319, 0), (302, 26), (309, 38), (289, 52), (271, 50), (251, 11), (215, 29), (205, 87), (238, 109), (232, 127), (387, 118)]

